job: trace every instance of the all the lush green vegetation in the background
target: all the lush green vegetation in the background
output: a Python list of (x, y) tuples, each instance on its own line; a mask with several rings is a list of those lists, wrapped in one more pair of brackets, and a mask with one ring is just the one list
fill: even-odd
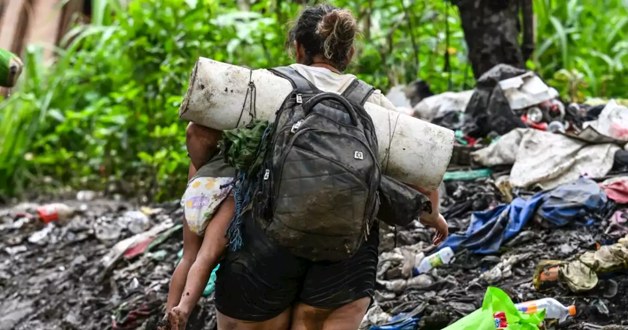
[[(21, 85), (0, 101), (0, 195), (111, 182), (149, 198), (180, 194), (189, 162), (177, 109), (196, 58), (252, 68), (291, 61), (284, 36), (300, 5), (251, 2), (241, 11), (233, 0), (131, 0), (124, 8), (94, 0), (92, 24), (65, 36), (55, 65), (43, 66), (41, 48), (29, 47)], [(364, 26), (350, 67), (362, 79), (384, 91), (416, 78), (435, 92), (474, 84), (457, 8), (445, 1), (331, 2)], [(628, 96), (627, 1), (534, 7), (531, 68), (566, 97)]]

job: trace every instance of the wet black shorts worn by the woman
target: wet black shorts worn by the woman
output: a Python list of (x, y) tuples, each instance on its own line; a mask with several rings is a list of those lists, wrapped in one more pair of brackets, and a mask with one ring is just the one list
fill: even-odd
[(313, 262), (293, 256), (271, 242), (259, 224), (244, 215), (242, 247), (229, 251), (217, 271), (215, 304), (241, 321), (272, 319), (295, 302), (336, 309), (375, 293), (379, 226), (354, 256), (337, 262)]

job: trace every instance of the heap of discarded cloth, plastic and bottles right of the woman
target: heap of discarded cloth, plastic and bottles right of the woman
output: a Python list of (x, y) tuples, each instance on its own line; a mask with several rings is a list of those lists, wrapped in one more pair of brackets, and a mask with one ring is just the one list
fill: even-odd
[[(392, 250), (382, 246), (381, 291), (360, 328), (471, 329), (488, 317), (499, 329), (497, 314), (506, 313), (536, 329), (528, 321), (541, 309), (544, 327), (628, 326), (625, 101), (564, 104), (533, 72), (508, 65), (472, 91), (428, 90), (415, 82), (388, 96), (404, 113), (456, 131), (439, 189), (452, 234), (428, 246), (430, 231), (416, 223)], [(486, 309), (487, 287), (514, 309), (470, 322)]]

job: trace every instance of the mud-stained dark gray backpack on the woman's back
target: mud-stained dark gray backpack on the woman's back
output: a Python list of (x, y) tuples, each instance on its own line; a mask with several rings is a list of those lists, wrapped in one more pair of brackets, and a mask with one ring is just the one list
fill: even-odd
[(374, 87), (354, 80), (338, 95), (291, 67), (252, 207), (266, 235), (295, 256), (338, 261), (354, 255), (379, 209), (377, 137), (364, 102)]

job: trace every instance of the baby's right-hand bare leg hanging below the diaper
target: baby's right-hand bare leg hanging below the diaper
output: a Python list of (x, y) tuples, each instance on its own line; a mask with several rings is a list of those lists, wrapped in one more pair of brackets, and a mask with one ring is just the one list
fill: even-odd
[(205, 239), (200, 246), (200, 251), (194, 261), (190, 272), (187, 274), (185, 289), (181, 295), (181, 301), (177, 306), (178, 311), (183, 314), (181, 317), (187, 321), (190, 312), (200, 299), (205, 290), (207, 280), (212, 270), (219, 263), (220, 256), (227, 248), (227, 237), (225, 233), (229, 228), (229, 223), (234, 216), (236, 202), (232, 197), (225, 199), (207, 228), (205, 229)]

